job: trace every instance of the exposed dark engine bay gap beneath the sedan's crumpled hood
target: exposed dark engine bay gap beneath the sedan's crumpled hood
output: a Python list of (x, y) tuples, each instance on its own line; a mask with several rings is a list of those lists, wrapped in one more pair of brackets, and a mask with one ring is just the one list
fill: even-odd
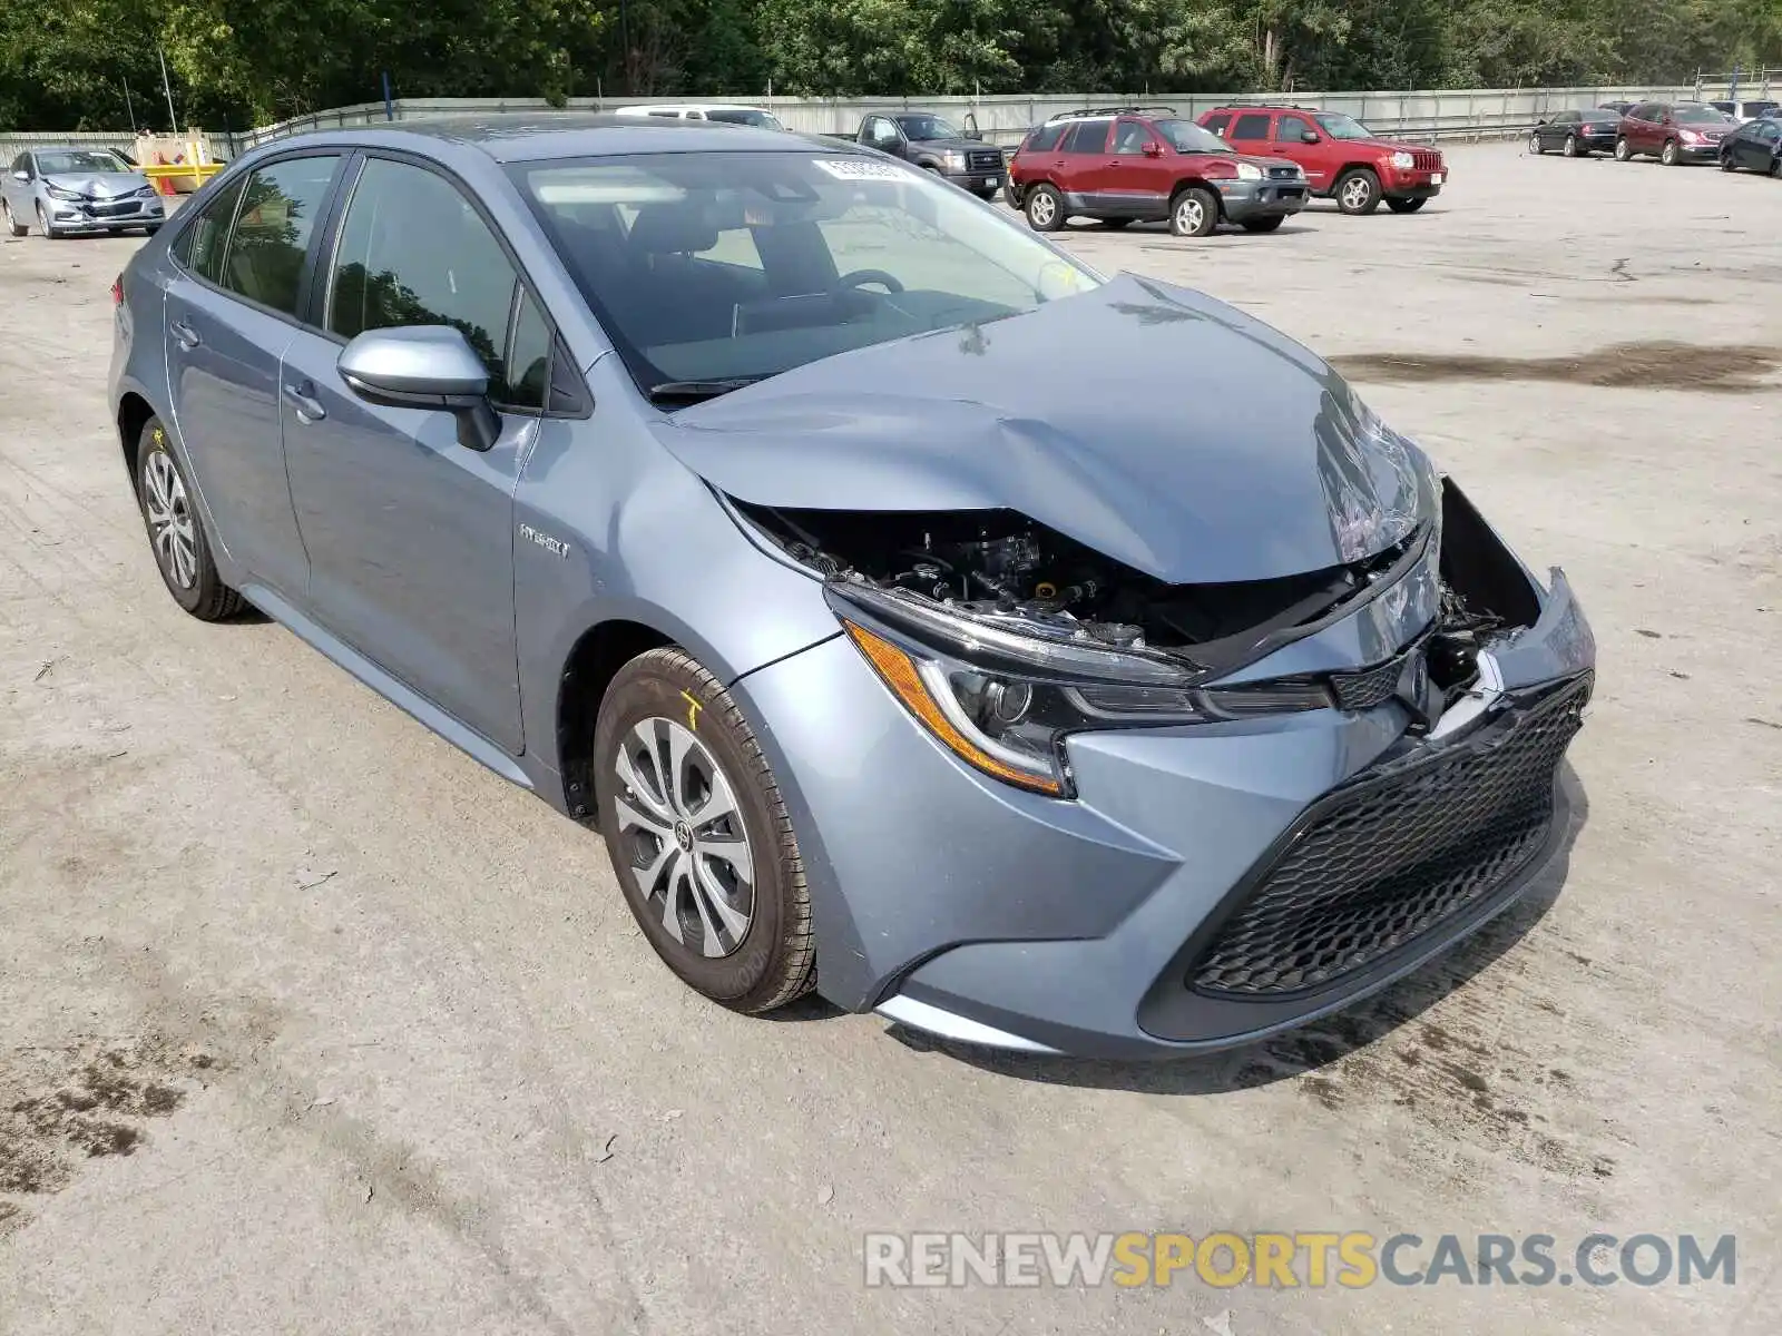
[(1016, 511), (879, 513), (736, 502), (789, 558), (825, 579), (902, 591), (1042, 639), (1167, 652), (1208, 675), (1297, 639), (1369, 591), (1386, 591), (1442, 543), (1422, 638), (1442, 693), (1465, 689), (1493, 636), (1531, 625), (1520, 566), (1452, 486), (1443, 525), (1422, 525), (1363, 561), (1263, 581), (1165, 584)]

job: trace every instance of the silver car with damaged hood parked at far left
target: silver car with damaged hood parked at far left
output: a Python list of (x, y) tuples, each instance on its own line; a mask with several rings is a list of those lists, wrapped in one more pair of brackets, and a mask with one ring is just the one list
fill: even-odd
[(14, 237), (32, 226), (50, 240), (128, 228), (153, 235), (166, 216), (148, 176), (109, 148), (30, 148), (0, 176), (0, 221)]

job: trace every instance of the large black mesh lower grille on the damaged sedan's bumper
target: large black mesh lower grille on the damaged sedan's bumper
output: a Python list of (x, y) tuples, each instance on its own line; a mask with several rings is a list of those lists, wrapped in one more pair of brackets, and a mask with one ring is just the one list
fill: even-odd
[(1331, 983), (1488, 896), (1547, 843), (1590, 680), (1326, 798), (1189, 971), (1201, 992)]

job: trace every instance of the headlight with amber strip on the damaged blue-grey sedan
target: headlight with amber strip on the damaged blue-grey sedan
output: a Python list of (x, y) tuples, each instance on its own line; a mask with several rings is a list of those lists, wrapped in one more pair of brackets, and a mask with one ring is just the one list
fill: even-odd
[(1205, 673), (1176, 656), (1048, 638), (868, 584), (830, 581), (825, 595), (854, 647), (939, 743), (1053, 798), (1075, 793), (1064, 754), (1073, 732), (1331, 704), (1317, 682), (1199, 688)]

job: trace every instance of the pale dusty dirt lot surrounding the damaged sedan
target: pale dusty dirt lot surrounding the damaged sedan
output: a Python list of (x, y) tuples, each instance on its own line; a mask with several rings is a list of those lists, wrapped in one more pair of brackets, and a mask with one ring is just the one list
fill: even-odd
[[(1600, 643), (1557, 894), (1160, 1067), (697, 1001), (584, 832), (173, 606), (103, 404), (137, 242), (0, 246), (0, 1331), (1777, 1331), (1782, 185), (1452, 160), (1067, 239), (1338, 356)], [(893, 1291), (873, 1229), (1736, 1233), (1737, 1284)]]

